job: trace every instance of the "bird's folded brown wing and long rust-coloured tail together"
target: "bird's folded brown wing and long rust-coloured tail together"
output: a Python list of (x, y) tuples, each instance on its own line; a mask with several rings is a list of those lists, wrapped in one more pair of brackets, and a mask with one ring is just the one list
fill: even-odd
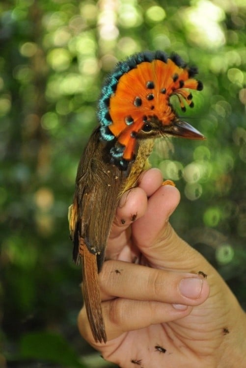
[(82, 259), (83, 296), (95, 341), (107, 341), (98, 272), (104, 261), (106, 243), (118, 194), (125, 177), (109, 164), (108, 147), (96, 129), (82, 155), (76, 178), (73, 204), (69, 208), (70, 235), (74, 242), (73, 259)]

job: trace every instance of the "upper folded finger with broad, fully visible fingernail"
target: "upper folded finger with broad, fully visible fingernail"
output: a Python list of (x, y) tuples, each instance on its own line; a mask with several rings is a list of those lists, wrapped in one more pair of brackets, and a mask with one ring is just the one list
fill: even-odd
[(120, 297), (195, 306), (209, 295), (208, 284), (200, 275), (121, 261), (105, 262), (99, 283), (102, 300)]

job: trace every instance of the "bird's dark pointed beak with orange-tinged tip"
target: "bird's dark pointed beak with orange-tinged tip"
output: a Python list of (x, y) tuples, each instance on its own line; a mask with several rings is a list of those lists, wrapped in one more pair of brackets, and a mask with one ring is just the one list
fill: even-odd
[(202, 133), (193, 128), (185, 121), (176, 120), (168, 127), (165, 127), (165, 133), (176, 135), (177, 137), (189, 139), (206, 139)]

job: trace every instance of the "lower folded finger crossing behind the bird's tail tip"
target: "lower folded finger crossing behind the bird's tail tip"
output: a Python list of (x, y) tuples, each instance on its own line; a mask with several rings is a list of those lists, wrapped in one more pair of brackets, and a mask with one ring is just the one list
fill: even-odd
[[(102, 303), (102, 309), (107, 339), (110, 341), (128, 331), (183, 318), (191, 313), (192, 307), (179, 310), (160, 302), (117, 298)], [(85, 308), (80, 311), (78, 326), (83, 338), (95, 345)]]

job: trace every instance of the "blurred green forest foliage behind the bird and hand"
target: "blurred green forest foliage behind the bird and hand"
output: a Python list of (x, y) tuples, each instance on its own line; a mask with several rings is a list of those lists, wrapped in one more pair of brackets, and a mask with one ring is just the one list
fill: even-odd
[(167, 139), (152, 163), (181, 191), (173, 226), (246, 307), (245, 26), (244, 0), (1, 2), (1, 367), (105, 364), (80, 363), (92, 349), (76, 326), (67, 208), (102, 80), (146, 49), (199, 66), (205, 88), (182, 116), (207, 140)]

